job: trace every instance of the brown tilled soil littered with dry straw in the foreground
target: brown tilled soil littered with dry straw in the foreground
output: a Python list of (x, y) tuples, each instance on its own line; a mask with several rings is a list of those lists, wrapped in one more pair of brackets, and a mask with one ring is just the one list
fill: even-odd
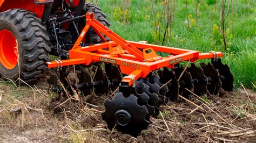
[[(221, 97), (191, 96), (190, 101), (201, 106), (198, 109), (183, 99), (169, 102), (161, 106), (162, 116), (151, 118), (148, 130), (137, 138), (107, 130), (101, 118), (105, 95), (93, 95), (85, 101), (71, 95), (69, 99), (64, 95), (56, 98), (46, 89), (32, 91), (4, 85), (0, 89), (3, 91), (0, 142), (253, 142), (256, 139), (256, 93), (249, 89), (225, 92)], [(10, 112), (16, 108), (20, 110)]]

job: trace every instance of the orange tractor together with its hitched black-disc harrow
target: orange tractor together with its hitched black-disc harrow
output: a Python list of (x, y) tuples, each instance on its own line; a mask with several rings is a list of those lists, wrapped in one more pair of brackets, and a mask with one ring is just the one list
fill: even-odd
[[(112, 91), (102, 113), (110, 130), (136, 137), (161, 105), (180, 95), (233, 89), (230, 68), (220, 59), (223, 53), (124, 40), (110, 30), (106, 14), (84, 0), (0, 0), (0, 12), (2, 78), (34, 84), (49, 74), (56, 94)], [(50, 61), (49, 55), (58, 59)], [(212, 62), (197, 67), (194, 62), (200, 59)]]

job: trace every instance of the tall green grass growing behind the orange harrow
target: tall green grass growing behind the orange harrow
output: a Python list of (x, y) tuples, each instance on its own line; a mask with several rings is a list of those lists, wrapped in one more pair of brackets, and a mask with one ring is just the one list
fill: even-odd
[[(193, 49), (199, 52), (216, 50), (224, 52), (224, 48), (221, 45), (215, 47), (215, 41), (213, 41), (213, 25), (220, 26), (217, 17), (220, 16), (221, 1), (217, 1), (217, 6), (214, 1), (209, 1), (209, 5), (207, 4), (208, 1), (201, 2), (198, 12), (198, 26), (196, 27), (195, 23), (194, 26), (188, 28), (185, 24), (187, 20), (186, 1), (174, 1), (172, 36), (170, 41), (165, 42), (165, 46)], [(229, 29), (232, 39), (228, 41), (230, 47), (224, 53), (223, 62), (230, 66), (231, 72), (235, 77), (234, 84), (236, 87), (239, 87), (241, 82), (246, 88), (253, 89), (251, 82), (256, 83), (256, 5), (252, 1), (248, 5), (248, 1), (245, 0), (234, 2), (237, 3), (233, 4), (234, 8), (230, 10), (230, 15), (226, 20), (226, 30)], [(140, 1), (139, 5), (139, 1), (132, 0), (129, 23), (126, 23), (125, 26), (115, 18), (117, 15), (113, 15), (117, 7), (116, 0), (114, 2), (111, 0), (99, 0), (98, 5), (107, 13), (107, 19), (111, 22), (110, 28), (124, 39), (133, 41), (146, 40), (151, 44), (162, 44), (162, 41), (157, 39), (154, 32), (151, 1), (145, 0), (145, 4)], [(119, 6), (121, 6), (122, 10), (122, 1), (119, 1)], [(218, 12), (215, 12), (215, 8), (217, 8)], [(156, 15), (161, 13), (163, 1), (155, 0), (154, 10)], [(188, 1), (188, 15), (191, 15), (191, 19), (196, 19), (196, 0)], [(160, 22), (163, 27), (165, 23), (163, 20), (160, 20)]]

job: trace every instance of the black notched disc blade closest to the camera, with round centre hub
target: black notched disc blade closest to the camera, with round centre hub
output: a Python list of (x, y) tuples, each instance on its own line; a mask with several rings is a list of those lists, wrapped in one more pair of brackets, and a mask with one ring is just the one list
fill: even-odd
[[(149, 112), (145, 105), (140, 106), (137, 101), (138, 97), (130, 95), (125, 98), (122, 92), (114, 94), (112, 100), (106, 99), (104, 103), (105, 112), (102, 113), (102, 118), (106, 121), (108, 128), (112, 130), (115, 127), (122, 133), (129, 133), (134, 137), (137, 137), (142, 130), (146, 129), (150, 124), (145, 119)], [(119, 114), (120, 112), (122, 114)], [(120, 116), (123, 116), (123, 119), (129, 117), (129, 119), (121, 120), (125, 121), (126, 124), (119, 122), (118, 117)]]

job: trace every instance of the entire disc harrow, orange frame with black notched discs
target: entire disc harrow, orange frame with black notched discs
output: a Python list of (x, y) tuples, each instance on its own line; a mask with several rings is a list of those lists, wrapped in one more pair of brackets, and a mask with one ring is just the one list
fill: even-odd
[[(108, 95), (109, 90), (114, 91), (112, 99), (106, 99), (102, 113), (109, 129), (117, 128), (136, 137), (149, 126), (151, 116), (158, 116), (161, 105), (169, 100), (176, 101), (179, 95), (189, 98), (191, 92), (218, 95), (223, 89), (232, 91), (233, 75), (219, 59), (223, 53), (199, 53), (151, 45), (146, 41), (127, 41), (94, 17), (93, 12), (86, 13), (86, 25), (70, 49), (68, 60), (47, 62), (49, 68), (57, 67), (60, 71), (59, 75), (51, 76), (53, 82), (49, 84), (53, 90), (62, 92), (58, 81), (63, 82), (64, 86), (81, 91), (84, 96)], [(85, 33), (90, 27), (102, 43), (85, 46)], [(167, 56), (159, 56), (157, 52)], [(197, 67), (193, 62), (200, 59), (212, 59), (212, 63), (201, 63), (201, 67)], [(179, 64), (183, 61), (192, 62), (191, 66), (184, 68)], [(104, 68), (100, 62), (105, 63)], [(65, 69), (65, 66), (73, 65), (80, 66)], [(77, 75), (74, 76), (72, 70), (77, 70)]]

